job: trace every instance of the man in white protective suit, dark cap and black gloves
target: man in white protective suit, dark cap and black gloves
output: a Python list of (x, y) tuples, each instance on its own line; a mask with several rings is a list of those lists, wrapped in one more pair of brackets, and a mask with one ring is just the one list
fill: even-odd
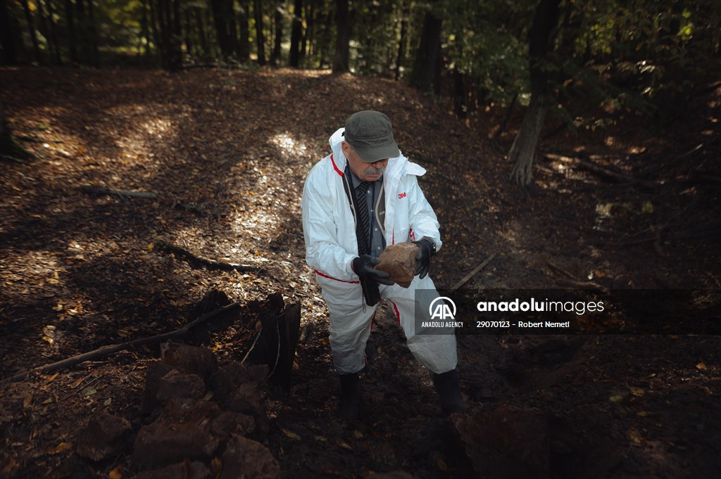
[[(428, 268), (441, 248), (438, 219), (417, 182), (425, 169), (401, 154), (391, 122), (380, 112), (355, 113), (329, 142), (332, 153), (306, 178), (302, 208), (306, 261), (316, 270), (330, 311), (340, 416), (358, 416), (366, 341), (381, 299), (392, 303), (412, 354), (433, 372), (443, 411), (464, 411), (454, 330), (416, 331), (417, 321), (430, 319), (430, 305), (438, 297)], [(419, 252), (416, 276), (404, 288), (373, 267), (386, 245), (406, 241)]]

